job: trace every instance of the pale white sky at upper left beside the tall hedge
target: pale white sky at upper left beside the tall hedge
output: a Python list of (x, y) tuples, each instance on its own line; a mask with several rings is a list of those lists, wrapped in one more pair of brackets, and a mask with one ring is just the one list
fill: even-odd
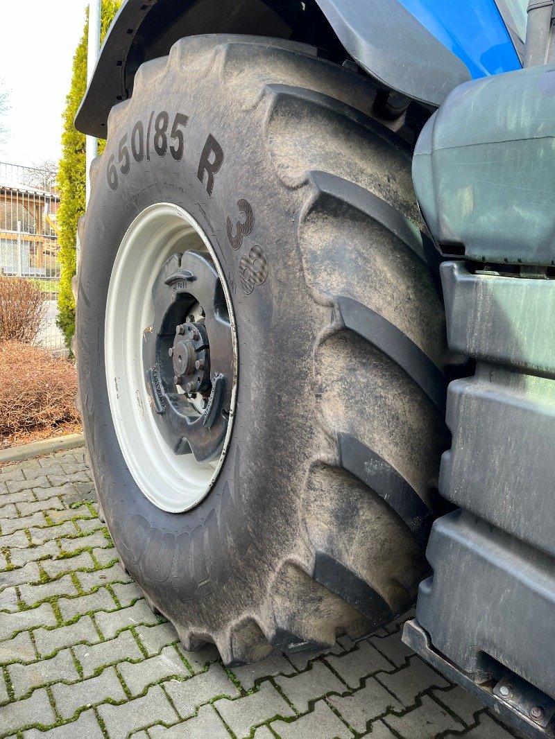
[(0, 0), (0, 90), (7, 140), (0, 161), (38, 166), (61, 155), (61, 115), (88, 0)]

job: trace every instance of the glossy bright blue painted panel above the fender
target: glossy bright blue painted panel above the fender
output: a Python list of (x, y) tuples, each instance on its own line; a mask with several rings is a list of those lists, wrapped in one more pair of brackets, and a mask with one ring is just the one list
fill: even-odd
[(400, 0), (468, 67), (472, 78), (520, 69), (494, 0)]

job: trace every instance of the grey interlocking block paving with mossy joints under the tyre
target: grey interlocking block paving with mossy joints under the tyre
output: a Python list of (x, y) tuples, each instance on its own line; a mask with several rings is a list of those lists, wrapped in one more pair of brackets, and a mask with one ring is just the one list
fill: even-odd
[(118, 564), (82, 449), (0, 469), (0, 738), (508, 739), (402, 643), (223, 667), (186, 652)]

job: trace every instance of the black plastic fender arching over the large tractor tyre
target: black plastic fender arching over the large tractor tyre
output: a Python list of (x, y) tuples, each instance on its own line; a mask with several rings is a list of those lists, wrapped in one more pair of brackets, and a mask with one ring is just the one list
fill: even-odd
[[(105, 138), (135, 72), (179, 38), (241, 33), (336, 47), (386, 88), (437, 107), (470, 79), (465, 64), (399, 0), (124, 0), (101, 50), (76, 128)], [(340, 59), (343, 61), (343, 59)]]

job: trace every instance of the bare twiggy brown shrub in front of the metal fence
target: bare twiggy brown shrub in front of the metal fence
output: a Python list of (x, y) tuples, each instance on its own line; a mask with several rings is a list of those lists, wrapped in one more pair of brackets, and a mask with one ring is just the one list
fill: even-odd
[(33, 342), (46, 308), (41, 290), (32, 282), (0, 276), (0, 341)]

